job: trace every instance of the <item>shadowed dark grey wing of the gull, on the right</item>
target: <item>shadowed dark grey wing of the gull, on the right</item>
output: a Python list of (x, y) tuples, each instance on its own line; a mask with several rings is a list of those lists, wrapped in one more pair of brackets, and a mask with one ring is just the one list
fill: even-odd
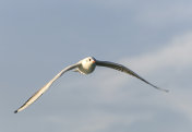
[(144, 80), (143, 77), (141, 77), (140, 75), (137, 75), (135, 72), (133, 72), (132, 70), (125, 68), (122, 64), (118, 64), (118, 63), (113, 63), (113, 62), (109, 62), (109, 61), (99, 61), (99, 60), (96, 60), (96, 65), (98, 65), (98, 67), (108, 67), (108, 68), (118, 70), (118, 71), (131, 74), (131, 75), (140, 79), (141, 81), (147, 83), (148, 85), (151, 85), (151, 86), (153, 86), (153, 87), (155, 87), (157, 89), (160, 89), (160, 91), (164, 91), (164, 92), (169, 92), (168, 89), (164, 89), (164, 88), (157, 87), (154, 84), (147, 82), (146, 80)]

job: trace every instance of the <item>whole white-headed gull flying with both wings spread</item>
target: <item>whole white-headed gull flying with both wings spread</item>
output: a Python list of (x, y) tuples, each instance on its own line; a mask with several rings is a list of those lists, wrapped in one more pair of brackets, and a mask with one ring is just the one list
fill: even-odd
[(74, 72), (79, 72), (81, 74), (89, 74), (95, 70), (96, 65), (97, 67), (107, 67), (110, 69), (115, 69), (118, 71), (128, 73), (128, 74), (133, 75), (133, 76), (137, 77), (139, 80), (145, 82), (146, 84), (153, 86), (156, 89), (159, 89), (163, 92), (169, 92), (168, 89), (157, 87), (154, 84), (147, 82), (146, 80), (144, 80), (143, 77), (137, 75), (135, 72), (133, 72), (132, 70), (128, 69), (127, 67), (124, 67), (122, 64), (109, 62), (109, 61), (100, 61), (100, 60), (96, 60), (94, 57), (87, 57), (87, 58), (79, 61), (77, 63), (69, 65), (69, 67), (64, 68), (62, 71), (60, 71), (52, 80), (50, 80), (45, 86), (43, 86), (39, 91), (37, 91), (23, 106), (21, 106), (17, 110), (15, 110), (14, 113), (24, 110), (29, 105), (32, 105), (35, 100), (37, 100), (52, 85), (52, 83), (57, 79), (59, 79), (61, 75), (63, 75), (65, 72), (73, 70)]

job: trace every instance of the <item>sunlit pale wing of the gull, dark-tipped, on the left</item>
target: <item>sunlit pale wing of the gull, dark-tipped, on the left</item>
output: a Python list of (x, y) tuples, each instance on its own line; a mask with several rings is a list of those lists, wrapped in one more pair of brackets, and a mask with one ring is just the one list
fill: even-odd
[(29, 105), (32, 105), (35, 100), (37, 100), (51, 85), (52, 83), (59, 79), (64, 72), (75, 69), (79, 65), (79, 63), (69, 65), (65, 69), (63, 69), (61, 72), (59, 72), (51, 81), (49, 81), (45, 86), (43, 86), (39, 91), (37, 91), (23, 106), (21, 106), (17, 110), (14, 111), (14, 113), (22, 111)]

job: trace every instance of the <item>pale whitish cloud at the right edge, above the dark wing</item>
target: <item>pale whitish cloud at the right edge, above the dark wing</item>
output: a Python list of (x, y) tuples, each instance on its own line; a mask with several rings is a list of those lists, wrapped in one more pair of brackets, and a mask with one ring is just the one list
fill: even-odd
[(164, 48), (137, 57), (124, 58), (121, 63), (130, 63), (141, 72), (153, 72), (165, 68), (189, 68), (192, 65), (190, 58), (192, 51), (192, 33), (176, 36)]

